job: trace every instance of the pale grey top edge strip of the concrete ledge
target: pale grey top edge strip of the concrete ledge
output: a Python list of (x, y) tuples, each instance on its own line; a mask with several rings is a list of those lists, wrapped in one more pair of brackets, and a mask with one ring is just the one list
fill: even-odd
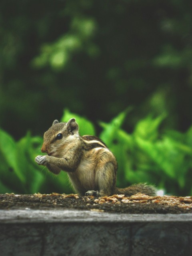
[(118, 214), (85, 210), (0, 210), (0, 223), (192, 222), (192, 214)]

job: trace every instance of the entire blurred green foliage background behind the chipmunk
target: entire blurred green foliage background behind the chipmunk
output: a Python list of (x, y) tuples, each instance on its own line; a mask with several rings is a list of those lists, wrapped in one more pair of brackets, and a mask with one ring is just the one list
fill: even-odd
[(1, 0), (0, 24), (0, 192), (70, 191), (34, 163), (70, 109), (116, 155), (118, 186), (192, 193), (190, 0)]

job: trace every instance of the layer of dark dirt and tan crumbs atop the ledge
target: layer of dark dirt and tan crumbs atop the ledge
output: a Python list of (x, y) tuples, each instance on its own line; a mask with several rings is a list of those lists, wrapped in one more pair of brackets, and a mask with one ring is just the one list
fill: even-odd
[(94, 197), (78, 194), (0, 194), (0, 209), (79, 209), (130, 214), (192, 213), (192, 196), (146, 196), (136, 194)]

